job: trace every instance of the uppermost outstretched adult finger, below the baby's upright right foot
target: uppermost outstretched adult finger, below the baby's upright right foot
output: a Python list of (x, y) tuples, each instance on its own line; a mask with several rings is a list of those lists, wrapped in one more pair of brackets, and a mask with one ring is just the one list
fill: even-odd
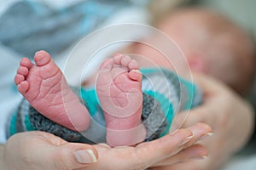
[(210, 132), (212, 132), (211, 127), (203, 123), (196, 124), (187, 129), (179, 129), (175, 133), (167, 134), (161, 139), (137, 145), (136, 157), (143, 157), (143, 164), (147, 167), (177, 154), (179, 150), (189, 147), (189, 145), (194, 144), (198, 139)]

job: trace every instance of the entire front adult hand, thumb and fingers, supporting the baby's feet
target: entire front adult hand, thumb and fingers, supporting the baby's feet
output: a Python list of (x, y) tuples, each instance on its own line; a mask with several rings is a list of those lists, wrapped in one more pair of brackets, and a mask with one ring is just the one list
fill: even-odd
[[(3, 161), (1, 169), (143, 170), (170, 156), (172, 163), (206, 156), (207, 150), (201, 145), (191, 145), (209, 133), (212, 133), (212, 128), (199, 123), (135, 147), (116, 148), (110, 148), (106, 144), (90, 146), (67, 143), (44, 132), (17, 133), (0, 150), (0, 161)], [(97, 157), (96, 163), (90, 163), (96, 161)]]

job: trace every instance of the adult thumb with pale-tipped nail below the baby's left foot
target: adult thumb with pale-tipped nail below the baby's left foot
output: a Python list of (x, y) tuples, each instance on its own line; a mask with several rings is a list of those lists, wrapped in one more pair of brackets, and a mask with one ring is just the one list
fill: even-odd
[(98, 154), (89, 144), (66, 143), (56, 146), (52, 156), (56, 169), (76, 169), (95, 163)]

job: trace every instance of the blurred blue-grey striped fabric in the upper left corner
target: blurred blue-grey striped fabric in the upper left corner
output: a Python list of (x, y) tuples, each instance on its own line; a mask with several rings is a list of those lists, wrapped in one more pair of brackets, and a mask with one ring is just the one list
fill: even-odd
[(32, 57), (39, 49), (60, 53), (131, 1), (86, 0), (55, 9), (40, 1), (19, 1), (0, 16), (0, 42)]

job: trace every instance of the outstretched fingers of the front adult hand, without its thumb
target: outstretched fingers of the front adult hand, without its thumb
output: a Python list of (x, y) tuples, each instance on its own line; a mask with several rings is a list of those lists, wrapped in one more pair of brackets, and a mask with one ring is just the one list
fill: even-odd
[[(138, 144), (135, 147), (123, 146), (110, 148), (108, 145), (97, 144), (99, 159), (91, 169), (122, 169), (143, 170), (156, 162), (172, 157), (170, 161), (198, 159), (207, 156), (207, 150), (201, 145), (193, 145), (203, 136), (212, 133), (207, 124), (198, 123), (192, 127), (179, 129), (172, 134), (151, 142)], [(182, 150), (182, 151), (181, 151)]]

